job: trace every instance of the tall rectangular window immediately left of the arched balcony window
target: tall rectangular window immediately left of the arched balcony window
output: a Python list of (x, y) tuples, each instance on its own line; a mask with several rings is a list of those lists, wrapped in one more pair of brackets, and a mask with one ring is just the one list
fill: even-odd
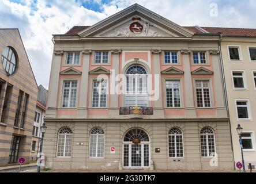
[(107, 80), (93, 81), (92, 107), (106, 108), (107, 106)]

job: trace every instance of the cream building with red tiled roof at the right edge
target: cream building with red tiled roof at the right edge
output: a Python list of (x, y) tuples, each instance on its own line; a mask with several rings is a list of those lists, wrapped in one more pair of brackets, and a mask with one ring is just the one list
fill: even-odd
[(238, 124), (243, 128), (244, 165), (255, 170), (255, 106), (256, 106), (256, 29), (189, 27), (195, 33), (220, 33), (221, 55), (231, 122), (234, 161), (242, 162)]

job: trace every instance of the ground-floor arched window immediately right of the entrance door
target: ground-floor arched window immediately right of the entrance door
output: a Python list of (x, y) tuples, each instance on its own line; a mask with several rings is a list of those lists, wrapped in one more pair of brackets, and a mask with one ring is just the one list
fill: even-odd
[(169, 156), (171, 158), (183, 157), (183, 135), (179, 128), (171, 128), (169, 131)]

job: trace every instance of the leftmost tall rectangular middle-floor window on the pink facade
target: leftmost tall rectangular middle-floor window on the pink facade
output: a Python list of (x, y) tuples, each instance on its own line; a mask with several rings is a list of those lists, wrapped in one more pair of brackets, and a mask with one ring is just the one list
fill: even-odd
[(64, 81), (62, 108), (74, 108), (77, 98), (77, 81)]

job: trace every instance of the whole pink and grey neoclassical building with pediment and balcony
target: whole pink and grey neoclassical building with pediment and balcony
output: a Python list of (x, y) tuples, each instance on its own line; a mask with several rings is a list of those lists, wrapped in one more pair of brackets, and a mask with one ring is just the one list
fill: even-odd
[(234, 169), (220, 39), (137, 4), (55, 34), (46, 167)]

